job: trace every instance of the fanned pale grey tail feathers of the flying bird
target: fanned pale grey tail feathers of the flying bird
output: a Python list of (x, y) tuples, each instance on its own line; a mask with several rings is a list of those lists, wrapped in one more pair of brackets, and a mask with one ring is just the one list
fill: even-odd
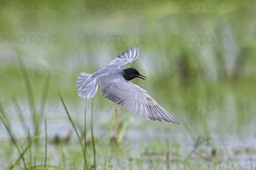
[(76, 89), (79, 90), (77, 94), (81, 98), (93, 98), (98, 89), (96, 78), (85, 72), (80, 72), (80, 74), (76, 79)]

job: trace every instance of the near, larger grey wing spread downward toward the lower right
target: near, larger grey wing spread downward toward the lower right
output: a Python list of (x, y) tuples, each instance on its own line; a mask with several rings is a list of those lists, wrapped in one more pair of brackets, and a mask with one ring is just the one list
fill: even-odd
[(148, 93), (139, 86), (126, 81), (123, 77), (97, 81), (101, 88), (101, 93), (105, 98), (120, 104), (130, 112), (140, 115), (153, 121), (161, 121), (179, 124), (163, 107), (157, 104)]

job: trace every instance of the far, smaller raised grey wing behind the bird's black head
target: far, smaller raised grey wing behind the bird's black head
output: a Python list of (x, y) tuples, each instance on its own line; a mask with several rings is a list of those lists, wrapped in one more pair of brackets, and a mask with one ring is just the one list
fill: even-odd
[(114, 60), (112, 60), (107, 66), (115, 66), (121, 67), (127, 63), (131, 63), (136, 60), (139, 56), (139, 47), (133, 46), (131, 49), (129, 48), (126, 52), (123, 52), (119, 56), (117, 56)]

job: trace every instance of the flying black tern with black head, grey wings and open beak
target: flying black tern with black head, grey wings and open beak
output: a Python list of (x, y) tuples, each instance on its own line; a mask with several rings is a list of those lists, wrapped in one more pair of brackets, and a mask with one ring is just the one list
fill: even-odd
[(103, 67), (92, 75), (80, 72), (76, 80), (77, 93), (81, 98), (93, 98), (96, 95), (98, 86), (101, 94), (120, 104), (130, 112), (155, 121), (173, 122), (179, 124), (163, 107), (157, 104), (148, 93), (139, 86), (129, 82), (134, 78), (146, 78), (134, 69), (121, 69), (120, 67), (131, 63), (138, 58), (139, 47), (133, 46), (126, 52), (123, 52), (107, 66)]

